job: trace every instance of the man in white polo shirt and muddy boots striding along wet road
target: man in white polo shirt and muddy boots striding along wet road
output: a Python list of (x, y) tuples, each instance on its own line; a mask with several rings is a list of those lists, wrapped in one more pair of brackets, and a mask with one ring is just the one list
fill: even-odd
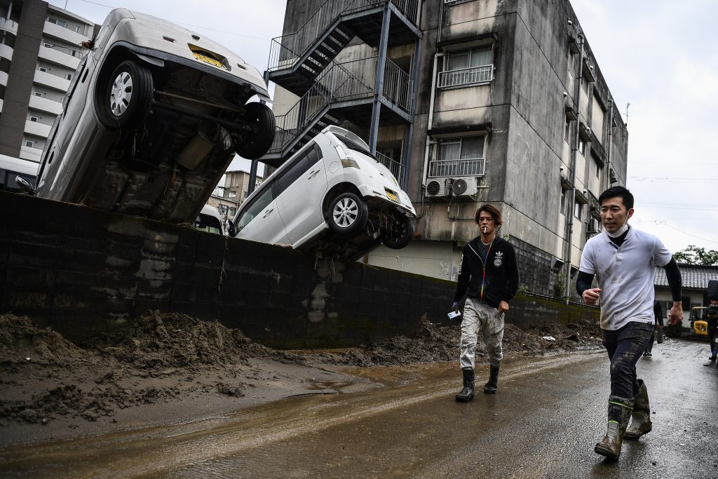
[(595, 452), (617, 459), (624, 437), (638, 439), (651, 432), (648, 389), (636, 376), (635, 365), (653, 333), (654, 265), (666, 269), (671, 288), (669, 325), (683, 319), (681, 271), (661, 240), (628, 226), (633, 215), (630, 191), (611, 187), (598, 203), (603, 231), (584, 246), (576, 290), (586, 304), (600, 299), (603, 345), (611, 361), (611, 395), (607, 432)]

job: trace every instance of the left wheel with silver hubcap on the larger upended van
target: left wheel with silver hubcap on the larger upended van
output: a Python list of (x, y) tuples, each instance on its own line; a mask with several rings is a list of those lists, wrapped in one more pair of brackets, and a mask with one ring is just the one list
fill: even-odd
[(135, 129), (152, 106), (154, 84), (148, 68), (121, 62), (108, 78), (98, 115), (107, 129)]

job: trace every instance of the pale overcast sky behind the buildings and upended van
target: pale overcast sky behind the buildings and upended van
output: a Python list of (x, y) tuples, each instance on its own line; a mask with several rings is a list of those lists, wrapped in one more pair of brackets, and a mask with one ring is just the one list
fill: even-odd
[[(260, 72), (271, 39), (281, 35), (285, 7), (284, 0), (50, 3), (99, 24), (116, 7), (162, 17), (225, 45)], [(718, 250), (718, 150), (712, 140), (718, 134), (718, 1), (572, 5), (628, 123), (628, 188), (636, 199), (630, 223), (673, 252), (691, 244)]]

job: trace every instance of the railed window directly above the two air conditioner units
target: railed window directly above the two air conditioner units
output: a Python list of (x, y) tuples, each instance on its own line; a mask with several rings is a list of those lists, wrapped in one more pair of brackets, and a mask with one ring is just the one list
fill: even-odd
[(462, 136), (439, 141), (437, 159), (429, 162), (429, 177), (482, 176), (485, 174), (485, 136)]

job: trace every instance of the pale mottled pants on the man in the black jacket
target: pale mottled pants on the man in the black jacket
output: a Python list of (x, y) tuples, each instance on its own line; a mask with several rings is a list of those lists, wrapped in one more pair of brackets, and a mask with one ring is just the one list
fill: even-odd
[(501, 366), (503, 359), (503, 314), (476, 299), (467, 298), (464, 319), (461, 322), (461, 368), (474, 368), (474, 350), (477, 334), (481, 330), (491, 366)]

